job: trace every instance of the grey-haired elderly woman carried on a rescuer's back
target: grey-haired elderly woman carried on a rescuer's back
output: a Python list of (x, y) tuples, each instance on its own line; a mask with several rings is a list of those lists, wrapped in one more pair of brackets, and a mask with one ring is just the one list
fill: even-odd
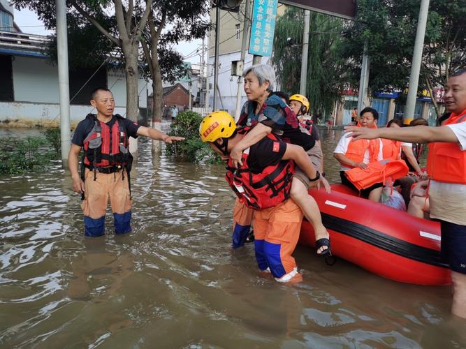
[[(245, 93), (247, 102), (242, 107), (238, 126), (252, 126), (252, 130), (247, 133), (231, 151), (233, 165), (238, 168), (242, 165), (242, 151), (256, 144), (269, 133), (274, 133), (285, 142), (300, 145), (308, 152), (314, 147), (313, 135), (300, 126), (298, 117), (286, 105), (286, 102), (279, 96), (272, 94), (275, 89), (275, 70), (267, 64), (258, 64), (245, 69)], [(310, 162), (312, 163), (311, 159)], [(310, 186), (322, 184), (327, 191), (330, 191), (328, 181), (316, 172), (315, 178), (308, 178), (305, 172), (296, 168), (296, 174), (291, 184), (291, 198), (298, 204), (308, 221), (314, 226), (316, 232), (316, 250), (319, 255), (330, 255), (330, 239), (326, 228), (322, 224), (319, 207), (307, 190)], [(245, 227), (245, 207), (237, 202), (233, 211), (233, 239), (235, 230)], [(239, 217), (238, 219), (236, 219)], [(237, 224), (236, 224), (237, 223)], [(237, 226), (238, 225), (238, 226)]]

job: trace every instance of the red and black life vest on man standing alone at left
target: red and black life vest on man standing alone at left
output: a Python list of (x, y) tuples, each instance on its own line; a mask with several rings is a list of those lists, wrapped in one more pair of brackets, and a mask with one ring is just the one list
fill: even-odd
[(124, 118), (119, 115), (115, 115), (115, 118), (115, 124), (110, 128), (95, 114), (87, 115), (86, 119), (94, 121), (92, 131), (84, 140), (84, 164), (87, 168), (128, 165), (129, 140), (121, 122)]

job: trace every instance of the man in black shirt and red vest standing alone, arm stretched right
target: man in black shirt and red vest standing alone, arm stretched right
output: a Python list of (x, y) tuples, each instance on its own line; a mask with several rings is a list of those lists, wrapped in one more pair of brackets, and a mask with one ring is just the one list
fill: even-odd
[[(115, 234), (131, 232), (131, 191), (129, 189), (129, 137), (138, 135), (171, 143), (184, 140), (168, 136), (154, 128), (140, 126), (114, 115), (115, 100), (105, 88), (92, 91), (91, 105), (97, 114), (88, 114), (80, 121), (71, 140), (68, 167), (73, 179), (73, 191), (83, 195), (85, 235), (99, 237), (105, 232), (105, 211), (108, 199), (115, 218)], [(84, 147), (81, 174), (79, 154)], [(125, 175), (126, 173), (126, 175)]]

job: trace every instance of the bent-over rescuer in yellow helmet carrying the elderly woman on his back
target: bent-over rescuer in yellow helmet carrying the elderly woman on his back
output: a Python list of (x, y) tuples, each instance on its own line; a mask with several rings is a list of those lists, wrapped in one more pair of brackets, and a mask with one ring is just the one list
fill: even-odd
[[(250, 130), (237, 129), (227, 112), (212, 112), (201, 121), (199, 135), (217, 154), (228, 155)], [(303, 220), (303, 212), (290, 198), (295, 163), (316, 186), (320, 174), (303, 147), (269, 134), (242, 153), (239, 168), (230, 158), (226, 174), (233, 192), (255, 210), (254, 249), (259, 269), (282, 282), (299, 281), (300, 277), (291, 256)]]

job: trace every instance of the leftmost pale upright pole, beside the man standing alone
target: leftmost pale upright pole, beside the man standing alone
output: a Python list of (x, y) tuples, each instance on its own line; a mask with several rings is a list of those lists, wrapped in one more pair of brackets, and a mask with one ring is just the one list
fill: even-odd
[(70, 151), (70, 83), (68, 79), (68, 33), (65, 0), (56, 0), (58, 84), (60, 96), (61, 161), (66, 166)]

